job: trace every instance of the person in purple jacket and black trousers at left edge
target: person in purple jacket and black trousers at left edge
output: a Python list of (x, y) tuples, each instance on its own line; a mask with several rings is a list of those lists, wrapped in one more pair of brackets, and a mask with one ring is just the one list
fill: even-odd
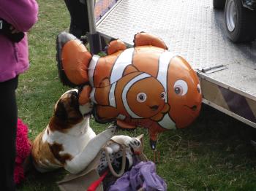
[(0, 190), (15, 190), (18, 75), (29, 68), (26, 31), (37, 22), (35, 0), (0, 0)]

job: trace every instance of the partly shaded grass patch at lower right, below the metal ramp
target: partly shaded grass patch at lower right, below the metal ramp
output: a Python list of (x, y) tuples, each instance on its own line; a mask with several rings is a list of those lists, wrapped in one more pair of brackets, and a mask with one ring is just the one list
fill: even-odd
[(162, 133), (158, 172), (171, 190), (256, 190), (256, 129), (204, 105), (189, 128)]

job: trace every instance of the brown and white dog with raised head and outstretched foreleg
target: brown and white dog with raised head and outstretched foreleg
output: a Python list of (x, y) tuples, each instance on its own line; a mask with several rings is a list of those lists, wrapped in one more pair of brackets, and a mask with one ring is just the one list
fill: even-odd
[(110, 127), (97, 136), (89, 125), (91, 104), (79, 106), (78, 90), (59, 98), (48, 126), (32, 145), (32, 158), (40, 172), (64, 168), (72, 174), (83, 171), (103, 145), (114, 135)]

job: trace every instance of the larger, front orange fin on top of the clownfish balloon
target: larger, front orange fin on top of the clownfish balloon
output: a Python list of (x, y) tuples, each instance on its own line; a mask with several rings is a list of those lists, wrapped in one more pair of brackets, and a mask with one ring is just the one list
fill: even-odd
[(168, 50), (168, 47), (166, 46), (165, 42), (162, 39), (160, 39), (157, 36), (154, 36), (153, 34), (148, 34), (145, 32), (135, 34), (133, 42), (134, 47), (151, 45), (154, 47), (160, 47), (162, 49)]

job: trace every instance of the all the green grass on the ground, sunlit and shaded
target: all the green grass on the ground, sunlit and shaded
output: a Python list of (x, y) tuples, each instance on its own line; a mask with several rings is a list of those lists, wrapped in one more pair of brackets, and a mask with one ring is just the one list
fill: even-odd
[[(18, 115), (29, 125), (34, 139), (48, 124), (53, 106), (68, 90), (59, 82), (56, 69), (56, 35), (67, 31), (69, 13), (63, 0), (38, 0), (39, 20), (29, 32), (31, 67), (20, 75)], [(99, 133), (106, 125), (91, 120)], [(145, 153), (153, 160), (144, 129), (119, 131), (130, 136), (146, 135)], [(203, 106), (200, 117), (189, 128), (171, 130), (159, 136), (160, 161), (157, 172), (168, 190), (256, 190), (256, 155), (249, 139), (255, 129)], [(32, 171), (19, 190), (58, 190), (56, 181), (64, 170), (47, 174)]]

